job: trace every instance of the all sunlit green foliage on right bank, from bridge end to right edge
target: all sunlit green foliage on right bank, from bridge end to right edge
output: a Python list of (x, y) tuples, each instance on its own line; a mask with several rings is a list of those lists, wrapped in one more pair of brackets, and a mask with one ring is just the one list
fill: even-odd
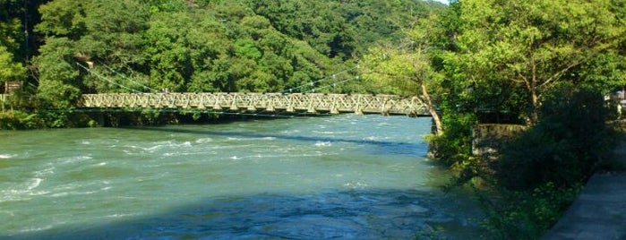
[[(433, 38), (435, 49), (429, 53), (433, 68), (445, 74), (433, 88), (444, 125), (444, 133), (431, 141), (435, 157), (461, 168), (475, 166), (472, 125), (541, 127), (542, 106), (549, 99), (569, 99), (557, 90), (563, 84), (595, 90), (596, 99), (621, 90), (626, 85), (625, 4), (610, 0), (451, 4), (436, 23), (440, 30), (434, 32), (440, 36)], [(594, 98), (579, 101), (589, 105)], [(607, 115), (596, 115), (593, 125), (604, 124), (603, 116)]]

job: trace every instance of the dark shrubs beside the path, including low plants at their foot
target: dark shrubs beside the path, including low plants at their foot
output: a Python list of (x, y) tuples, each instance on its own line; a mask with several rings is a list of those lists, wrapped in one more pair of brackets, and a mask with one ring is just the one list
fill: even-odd
[(490, 186), (478, 193), (485, 229), (496, 239), (536, 239), (552, 227), (587, 178), (610, 164), (609, 116), (597, 89), (562, 83), (545, 92), (534, 126), (506, 142), (498, 158), (463, 169), (466, 180), (480, 177)]

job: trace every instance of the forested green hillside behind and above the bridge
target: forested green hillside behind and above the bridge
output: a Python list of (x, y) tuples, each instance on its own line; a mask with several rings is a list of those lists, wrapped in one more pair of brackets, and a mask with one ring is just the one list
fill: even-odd
[(56, 108), (81, 93), (277, 92), (333, 73), (345, 79), (368, 47), (399, 39), (411, 21), (444, 8), (330, 0), (0, 4), (0, 81), (26, 81), (26, 91)]

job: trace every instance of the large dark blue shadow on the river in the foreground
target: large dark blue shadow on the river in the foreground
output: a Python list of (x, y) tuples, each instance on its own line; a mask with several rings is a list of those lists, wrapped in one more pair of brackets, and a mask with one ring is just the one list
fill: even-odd
[[(152, 216), (58, 226), (2, 239), (477, 238), (463, 198), (416, 190), (260, 193), (198, 201)], [(115, 213), (111, 213), (115, 214)], [(439, 232), (439, 230), (442, 230)], [(454, 233), (447, 232), (450, 228)]]

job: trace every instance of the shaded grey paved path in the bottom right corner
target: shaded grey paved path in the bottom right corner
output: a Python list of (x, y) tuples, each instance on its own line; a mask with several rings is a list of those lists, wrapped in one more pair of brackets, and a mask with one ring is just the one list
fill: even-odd
[(616, 171), (592, 176), (542, 239), (626, 239), (626, 141), (613, 153)]

